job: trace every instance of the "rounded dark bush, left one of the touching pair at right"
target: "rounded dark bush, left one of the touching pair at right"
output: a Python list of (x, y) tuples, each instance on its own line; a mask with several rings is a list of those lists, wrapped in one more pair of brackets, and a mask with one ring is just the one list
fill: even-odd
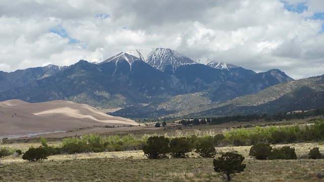
[(258, 160), (265, 160), (270, 155), (272, 147), (270, 144), (266, 143), (259, 143), (253, 145), (250, 149), (250, 156), (255, 157)]

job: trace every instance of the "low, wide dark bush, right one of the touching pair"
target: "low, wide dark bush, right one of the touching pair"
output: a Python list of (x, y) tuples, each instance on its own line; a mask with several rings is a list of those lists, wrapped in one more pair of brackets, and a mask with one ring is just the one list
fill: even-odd
[(287, 147), (281, 147), (278, 149), (273, 149), (270, 155), (268, 156), (268, 159), (274, 160), (274, 159), (297, 159), (297, 155), (294, 148)]

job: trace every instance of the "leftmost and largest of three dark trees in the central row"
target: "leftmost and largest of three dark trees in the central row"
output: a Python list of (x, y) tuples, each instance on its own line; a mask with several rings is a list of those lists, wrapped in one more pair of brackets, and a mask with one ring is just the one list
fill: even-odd
[(165, 156), (170, 151), (169, 139), (164, 136), (151, 136), (143, 146), (143, 152), (149, 159)]

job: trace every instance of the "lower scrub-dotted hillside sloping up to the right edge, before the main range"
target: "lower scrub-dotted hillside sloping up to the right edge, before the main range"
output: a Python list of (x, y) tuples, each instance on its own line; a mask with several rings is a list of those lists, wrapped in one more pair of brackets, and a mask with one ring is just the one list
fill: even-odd
[[(271, 74), (271, 73), (270, 73)], [(235, 115), (290, 112), (324, 107), (324, 75), (289, 81), (238, 97), (218, 105), (201, 108), (193, 115)], [(190, 113), (191, 111), (188, 111)]]

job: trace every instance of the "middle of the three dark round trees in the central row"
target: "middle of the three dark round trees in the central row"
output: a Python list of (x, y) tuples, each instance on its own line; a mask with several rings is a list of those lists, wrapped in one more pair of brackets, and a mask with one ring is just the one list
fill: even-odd
[(175, 158), (185, 158), (193, 149), (192, 144), (186, 138), (174, 138), (170, 142), (170, 154)]

